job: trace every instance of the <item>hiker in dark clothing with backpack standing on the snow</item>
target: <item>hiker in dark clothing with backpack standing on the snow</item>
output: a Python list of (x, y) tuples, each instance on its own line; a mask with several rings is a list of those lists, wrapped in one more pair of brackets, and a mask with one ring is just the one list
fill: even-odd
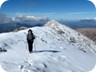
[(31, 53), (33, 50), (33, 42), (34, 42), (35, 36), (32, 33), (32, 30), (29, 29), (28, 30), (28, 34), (27, 34), (27, 43), (28, 43), (28, 48), (29, 48), (29, 52)]

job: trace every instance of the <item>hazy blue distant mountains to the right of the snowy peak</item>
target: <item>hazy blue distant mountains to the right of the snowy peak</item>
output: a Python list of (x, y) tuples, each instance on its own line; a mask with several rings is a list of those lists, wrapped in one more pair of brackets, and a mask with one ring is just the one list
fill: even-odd
[(76, 21), (59, 20), (60, 23), (65, 24), (73, 29), (77, 28), (96, 28), (96, 19), (81, 19)]

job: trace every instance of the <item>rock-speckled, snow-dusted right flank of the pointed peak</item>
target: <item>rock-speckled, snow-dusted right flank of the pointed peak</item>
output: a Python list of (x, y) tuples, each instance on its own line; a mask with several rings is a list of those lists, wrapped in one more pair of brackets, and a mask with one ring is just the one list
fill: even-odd
[[(61, 32), (65, 41), (69, 42), (70, 44), (76, 45), (76, 48), (83, 50), (84, 52), (94, 52), (96, 54), (96, 45), (95, 43), (90, 40), (89, 38), (83, 36), (81, 33), (58, 23), (55, 20), (49, 21), (47, 24), (44, 25), (45, 27), (50, 27), (53, 31)], [(94, 46), (95, 47), (94, 47)]]

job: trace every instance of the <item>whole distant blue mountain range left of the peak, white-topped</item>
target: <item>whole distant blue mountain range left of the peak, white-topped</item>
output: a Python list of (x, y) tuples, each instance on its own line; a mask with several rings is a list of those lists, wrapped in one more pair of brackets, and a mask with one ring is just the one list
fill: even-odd
[(48, 18), (34, 17), (34, 16), (16, 16), (8, 18), (6, 16), (0, 17), (0, 33), (10, 32), (20, 27), (34, 27), (42, 26), (48, 22)]

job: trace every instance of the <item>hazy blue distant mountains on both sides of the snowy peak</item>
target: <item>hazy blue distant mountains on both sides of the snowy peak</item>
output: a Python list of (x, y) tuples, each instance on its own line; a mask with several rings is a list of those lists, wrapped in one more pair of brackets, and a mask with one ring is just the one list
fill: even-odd
[[(1, 15), (0, 15), (1, 16)], [(20, 27), (43, 26), (49, 21), (48, 18), (34, 16), (16, 16), (13, 18), (2, 15), (0, 17), (0, 33), (10, 32)], [(81, 19), (76, 21), (58, 20), (60, 23), (73, 29), (78, 28), (96, 28), (96, 19)]]

